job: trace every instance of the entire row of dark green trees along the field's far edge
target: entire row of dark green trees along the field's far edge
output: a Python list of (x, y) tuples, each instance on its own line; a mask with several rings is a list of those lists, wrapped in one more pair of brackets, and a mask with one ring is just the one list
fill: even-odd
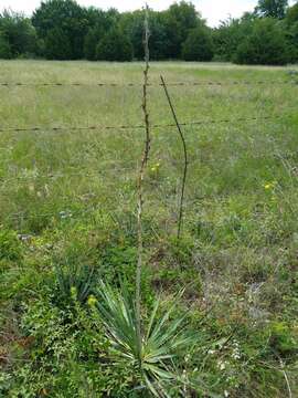
[[(288, 0), (259, 0), (253, 12), (214, 29), (187, 1), (149, 14), (151, 60), (298, 62), (298, 1), (289, 7)], [(0, 59), (142, 60), (142, 10), (120, 13), (47, 0), (31, 18), (12, 10), (0, 13)]]

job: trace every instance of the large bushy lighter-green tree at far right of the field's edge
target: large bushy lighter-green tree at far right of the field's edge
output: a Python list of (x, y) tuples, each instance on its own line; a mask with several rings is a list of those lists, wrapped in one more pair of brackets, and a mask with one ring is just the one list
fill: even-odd
[(235, 61), (240, 64), (286, 64), (287, 40), (280, 24), (270, 18), (257, 20), (252, 34), (240, 44)]

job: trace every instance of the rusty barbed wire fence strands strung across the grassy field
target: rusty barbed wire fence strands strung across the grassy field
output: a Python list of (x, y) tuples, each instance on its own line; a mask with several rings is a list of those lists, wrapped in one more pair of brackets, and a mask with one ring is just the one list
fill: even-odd
[[(269, 80), (258, 80), (258, 81), (235, 81), (235, 80), (231, 80), (231, 81), (225, 81), (225, 82), (220, 82), (220, 81), (193, 81), (193, 82), (169, 82), (167, 83), (167, 86), (172, 86), (172, 87), (199, 87), (199, 86), (205, 86), (205, 87), (212, 87), (212, 86), (219, 86), (219, 87), (230, 87), (230, 86), (292, 86), (292, 87), (298, 87), (298, 80), (280, 80), (280, 81), (269, 81)], [(0, 87), (2, 88), (25, 88), (25, 87), (32, 87), (33, 90), (36, 87), (123, 87), (123, 88), (127, 88), (127, 87), (140, 87), (142, 88), (143, 85), (141, 83), (113, 83), (113, 82), (94, 82), (94, 83), (85, 83), (85, 82), (70, 82), (70, 83), (62, 83), (62, 82), (0, 82)], [(162, 87), (161, 83), (148, 83), (148, 87)], [(286, 119), (286, 118), (290, 118), (292, 117), (292, 111), (296, 109), (288, 109), (288, 113), (279, 113), (279, 114), (270, 114), (270, 115), (253, 115), (249, 117), (232, 117), (232, 118), (205, 118), (205, 119), (198, 119), (198, 121), (182, 121), (180, 122), (180, 126), (183, 127), (188, 127), (188, 126), (211, 126), (211, 125), (221, 125), (221, 124), (226, 124), (226, 125), (234, 125), (236, 123), (264, 123), (266, 121), (278, 121), (278, 119)], [(174, 123), (152, 123), (150, 125), (151, 128), (172, 128), (175, 127)], [(49, 125), (43, 125), (43, 126), (4, 126), (0, 124), (0, 133), (44, 133), (44, 132), (56, 132), (56, 133), (62, 133), (62, 132), (85, 132), (85, 130), (95, 130), (95, 132), (100, 132), (100, 130), (138, 130), (138, 129), (143, 129), (145, 125), (142, 124), (132, 124), (132, 125), (93, 125), (93, 126), (72, 126), (72, 125), (61, 125), (61, 126), (49, 126)], [(117, 167), (117, 170), (120, 171), (127, 171), (127, 172), (132, 172), (134, 168), (124, 168), (123, 166)], [(98, 178), (100, 177), (100, 174), (97, 172), (88, 172), (88, 171), (83, 171), (83, 172), (73, 172), (73, 174), (68, 174), (68, 172), (47, 172), (47, 174), (40, 174), (38, 172), (34, 176), (30, 176), (30, 175), (24, 175), (24, 176), (13, 176), (13, 177), (9, 177), (9, 178), (3, 178), (0, 175), (0, 181), (3, 184), (9, 184), (11, 181), (22, 181), (22, 180), (28, 180), (28, 179), (35, 179), (35, 178), (42, 178), (42, 179), (49, 179), (49, 180), (54, 180), (54, 179), (60, 179), (60, 178), (65, 178), (65, 177), (71, 177), (71, 176), (84, 176), (84, 177), (94, 177), (94, 178)], [(8, 219), (11, 220), (23, 220), (23, 219), (35, 219), (35, 218), (44, 218), (44, 217), (50, 217), (50, 218), (55, 218), (55, 219), (60, 219), (60, 220), (65, 220), (65, 219), (70, 219), (73, 218), (75, 216), (81, 216), (81, 214), (91, 214), (96, 211), (97, 207), (91, 207), (87, 209), (81, 209), (81, 210), (67, 210), (67, 211), (56, 211), (56, 212), (42, 212), (42, 213), (36, 213), (33, 216), (26, 214), (25, 212), (17, 212), (17, 213), (12, 213), (12, 214), (8, 214)]]

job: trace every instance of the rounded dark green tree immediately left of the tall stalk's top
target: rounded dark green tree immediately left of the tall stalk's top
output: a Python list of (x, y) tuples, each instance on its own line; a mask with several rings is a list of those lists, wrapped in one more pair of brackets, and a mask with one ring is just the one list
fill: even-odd
[(129, 39), (117, 28), (111, 29), (96, 48), (99, 61), (131, 61), (132, 45)]

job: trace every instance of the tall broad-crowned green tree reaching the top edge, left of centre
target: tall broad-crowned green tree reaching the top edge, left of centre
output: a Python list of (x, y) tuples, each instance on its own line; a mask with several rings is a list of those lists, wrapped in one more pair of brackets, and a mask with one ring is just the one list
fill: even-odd
[[(45, 42), (46, 57), (77, 60), (84, 56), (84, 38), (88, 30), (87, 13), (74, 0), (43, 1), (34, 11), (32, 23), (39, 38)], [(57, 38), (54, 38), (55, 33)]]

